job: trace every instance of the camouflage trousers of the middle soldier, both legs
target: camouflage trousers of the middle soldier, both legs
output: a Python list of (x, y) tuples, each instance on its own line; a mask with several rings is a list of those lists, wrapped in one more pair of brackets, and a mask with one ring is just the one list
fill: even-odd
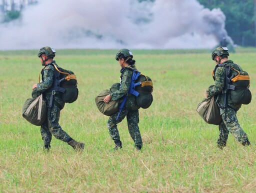
[(141, 135), (138, 127), (138, 121), (139, 121), (138, 110), (122, 109), (119, 118), (116, 120), (118, 113), (119, 113), (119, 110), (114, 114), (112, 114), (107, 121), (107, 128), (108, 128), (111, 139), (120, 140), (120, 136), (119, 136), (119, 132), (116, 124), (121, 122), (126, 116), (128, 131), (132, 140), (134, 141), (134, 146), (142, 147), (142, 139), (141, 139)]

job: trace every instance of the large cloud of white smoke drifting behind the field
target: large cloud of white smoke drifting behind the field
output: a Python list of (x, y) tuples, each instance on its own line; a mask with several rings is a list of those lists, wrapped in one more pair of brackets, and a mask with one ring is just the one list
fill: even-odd
[(196, 0), (40, 0), (0, 24), (0, 49), (212, 48), (224, 21)]

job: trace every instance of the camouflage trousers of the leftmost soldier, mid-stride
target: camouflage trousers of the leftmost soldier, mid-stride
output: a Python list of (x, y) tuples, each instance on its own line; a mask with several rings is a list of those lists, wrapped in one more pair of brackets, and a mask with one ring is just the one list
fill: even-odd
[(40, 129), (44, 146), (50, 145), (51, 135), (64, 142), (70, 139), (70, 136), (58, 124), (59, 115), (60, 108), (55, 104), (52, 105), (51, 109), (47, 109), (47, 120)]

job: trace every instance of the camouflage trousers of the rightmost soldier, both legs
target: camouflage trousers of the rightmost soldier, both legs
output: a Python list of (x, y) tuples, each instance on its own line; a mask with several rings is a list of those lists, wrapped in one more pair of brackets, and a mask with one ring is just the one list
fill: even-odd
[[(226, 115), (225, 110), (220, 108), (220, 114), (222, 117), (221, 123), (218, 125), (219, 129), (219, 137), (217, 143), (221, 146), (226, 145), (226, 140), (228, 137), (228, 133), (230, 132), (234, 137), (240, 142), (244, 142), (248, 140), (246, 133), (241, 128), (238, 120), (236, 118), (236, 111), (227, 106), (226, 107)], [(226, 119), (224, 118), (226, 117)]]

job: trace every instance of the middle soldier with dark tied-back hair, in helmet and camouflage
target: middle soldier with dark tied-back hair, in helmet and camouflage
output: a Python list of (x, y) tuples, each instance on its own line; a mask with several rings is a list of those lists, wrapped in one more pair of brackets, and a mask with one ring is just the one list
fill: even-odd
[(115, 59), (119, 61), (119, 64), (121, 66), (121, 76), (120, 76), (120, 88), (111, 94), (107, 95), (103, 101), (109, 102), (110, 99), (112, 100), (118, 100), (122, 98), (123, 96), (127, 95), (127, 101), (125, 104), (125, 107), (121, 110), (120, 115), (118, 119), (116, 120), (119, 111), (112, 114), (108, 121), (107, 121), (107, 127), (109, 134), (114, 140), (115, 147), (114, 149), (122, 148), (122, 142), (120, 141), (119, 132), (117, 129), (116, 124), (121, 122), (122, 119), (126, 116), (127, 119), (127, 125), (129, 134), (134, 141), (134, 146), (137, 150), (140, 150), (142, 148), (142, 139), (139, 132), (138, 127), (138, 106), (135, 101), (135, 96), (128, 94), (128, 89), (132, 77), (132, 69), (136, 69), (134, 63), (135, 60), (132, 59), (133, 55), (130, 50), (128, 49), (120, 49), (115, 56)]

